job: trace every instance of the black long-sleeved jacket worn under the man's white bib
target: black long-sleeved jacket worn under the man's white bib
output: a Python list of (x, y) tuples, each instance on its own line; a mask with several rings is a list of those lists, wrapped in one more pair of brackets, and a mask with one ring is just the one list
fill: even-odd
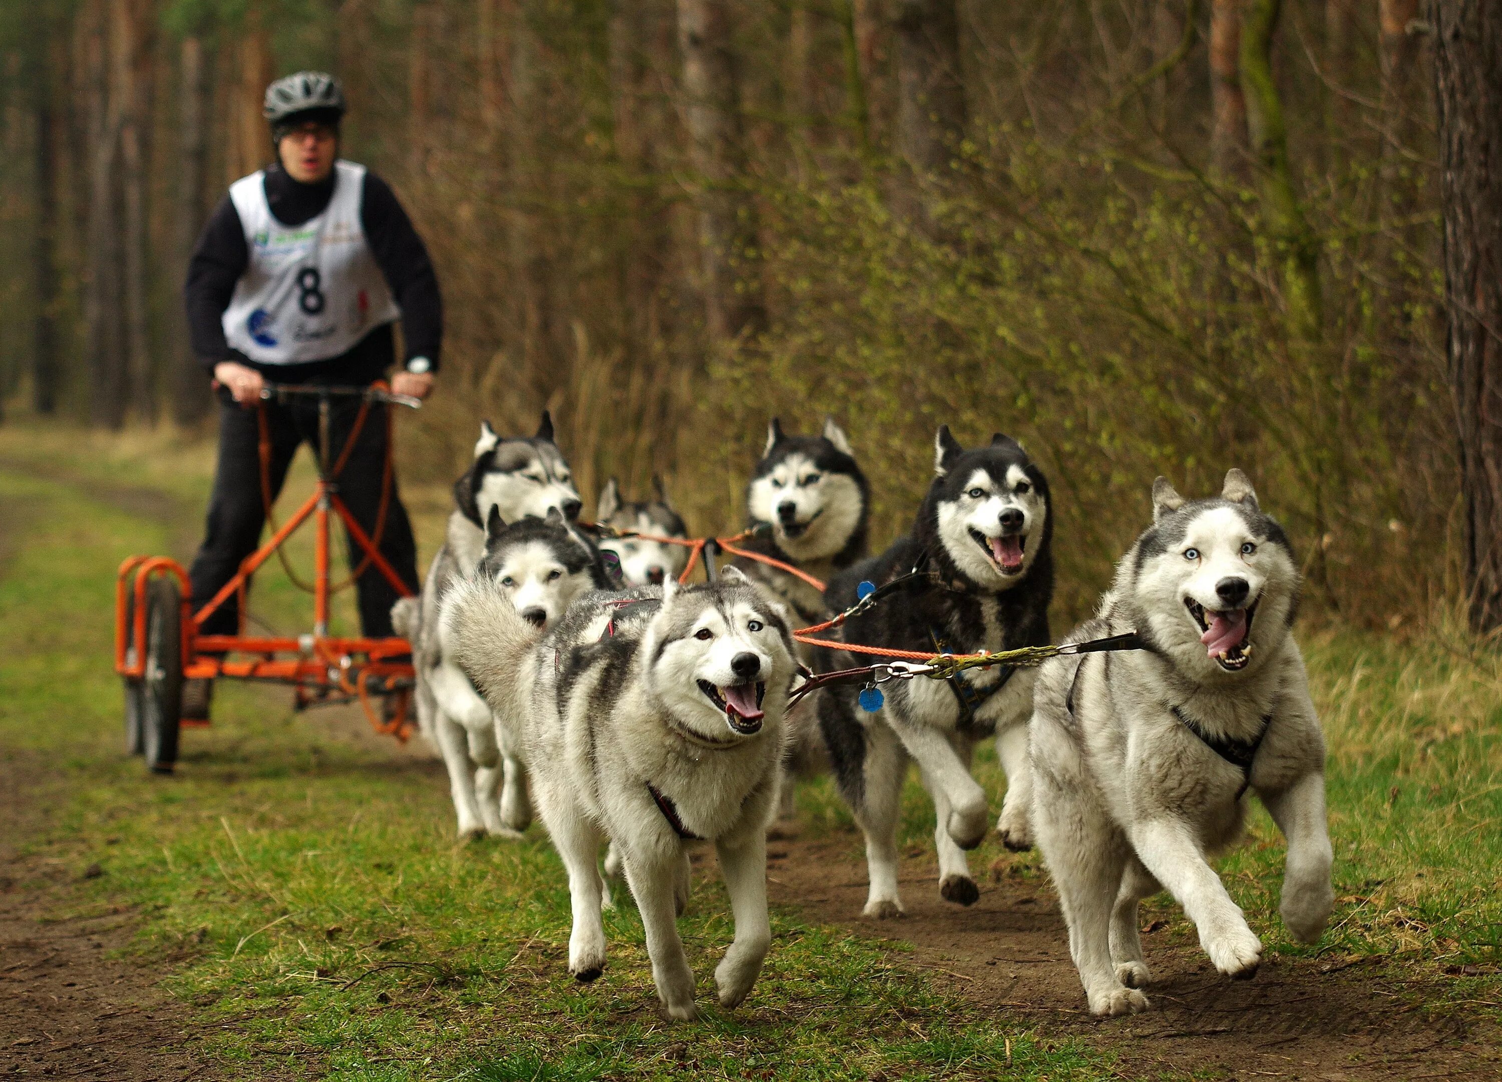
[[(323, 213), (333, 197), (336, 173), (327, 180), (306, 185), (293, 180), (281, 165), (266, 170), (266, 201), (276, 221), (284, 225), (302, 225)], [(376, 255), (376, 263), (386, 275), (397, 307), (401, 308), (401, 328), (407, 346), (407, 358), (425, 356), (439, 367), (439, 349), (443, 340), (443, 301), (439, 296), (439, 277), (422, 237), (412, 227), (412, 219), (397, 201), (397, 194), (374, 173), (365, 173), (365, 191), (360, 197), (360, 225), (365, 239)], [(207, 371), (221, 361), (237, 361), (258, 371), (275, 371), (278, 382), (300, 383), (324, 380), (335, 383), (369, 383), (380, 379), (394, 358), (391, 325), (372, 329), (348, 352), (327, 361), (311, 361), (294, 365), (263, 365), (251, 361), (239, 350), (230, 349), (224, 340), (221, 317), (230, 307), (234, 284), (249, 266), (249, 249), (245, 245), (245, 228), (234, 203), (225, 195), (204, 225), (188, 263), (188, 284), (183, 299), (188, 305), (188, 335), (194, 353)]]

